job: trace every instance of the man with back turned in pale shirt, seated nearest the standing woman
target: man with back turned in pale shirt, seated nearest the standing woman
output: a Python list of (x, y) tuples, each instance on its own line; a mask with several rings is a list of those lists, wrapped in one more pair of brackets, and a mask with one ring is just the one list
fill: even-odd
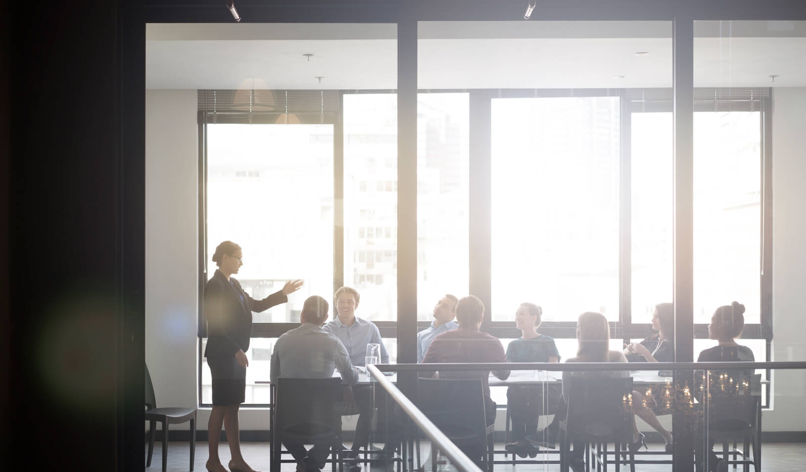
[[(350, 362), (347, 349), (338, 337), (322, 329), (327, 321), (327, 300), (310, 296), (302, 305), (299, 328), (286, 331), (277, 339), (272, 352), (272, 383), (278, 377), (291, 379), (330, 379), (339, 369), (343, 383), (358, 383), (358, 371)], [(330, 445), (314, 445), (305, 451), (301, 444), (283, 441), (294, 459), (297, 472), (318, 472), (325, 466)]]

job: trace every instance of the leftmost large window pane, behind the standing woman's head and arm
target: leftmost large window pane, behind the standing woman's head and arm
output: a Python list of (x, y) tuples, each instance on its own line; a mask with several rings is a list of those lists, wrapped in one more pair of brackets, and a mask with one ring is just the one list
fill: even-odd
[(238, 243), (238, 279), (256, 299), (305, 280), (255, 321), (299, 321), (305, 298), (333, 291), (332, 125), (208, 124), (206, 191), (206, 261)]

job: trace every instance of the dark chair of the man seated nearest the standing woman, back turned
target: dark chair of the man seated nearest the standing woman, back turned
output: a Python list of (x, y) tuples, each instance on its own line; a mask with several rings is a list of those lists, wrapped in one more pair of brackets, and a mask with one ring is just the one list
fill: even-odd
[[(322, 466), (333, 453), (333, 470), (342, 470), (342, 417), (338, 403), (342, 395), (342, 379), (277, 379), (276, 407), (272, 425), (272, 472), (280, 470), (281, 445), (296, 449), (295, 459), (305, 453), (298, 448), (313, 444), (308, 452), (312, 467)], [(289, 449), (290, 450), (290, 449)], [(299, 457), (301, 456), (301, 457)], [(286, 461), (291, 462), (291, 461)]]

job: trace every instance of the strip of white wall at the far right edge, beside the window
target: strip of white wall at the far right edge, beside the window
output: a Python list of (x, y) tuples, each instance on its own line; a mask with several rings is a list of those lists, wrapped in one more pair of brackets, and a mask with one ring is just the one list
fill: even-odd
[[(775, 361), (806, 360), (806, 88), (776, 88), (772, 114), (772, 309)], [(773, 411), (765, 430), (798, 431), (806, 424), (806, 374), (774, 373)]]

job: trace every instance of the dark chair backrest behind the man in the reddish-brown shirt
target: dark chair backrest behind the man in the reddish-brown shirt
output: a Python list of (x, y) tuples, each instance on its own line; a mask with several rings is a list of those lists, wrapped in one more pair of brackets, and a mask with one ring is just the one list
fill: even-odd
[(418, 379), (417, 407), (451, 440), (451, 433), (467, 432), (472, 437), (464, 442), (486, 441), (481, 379)]

